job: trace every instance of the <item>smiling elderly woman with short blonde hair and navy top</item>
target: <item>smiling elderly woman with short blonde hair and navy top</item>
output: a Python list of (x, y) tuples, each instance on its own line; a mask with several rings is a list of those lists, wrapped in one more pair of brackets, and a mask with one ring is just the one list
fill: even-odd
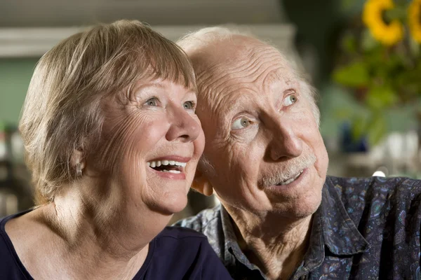
[(20, 132), (35, 209), (0, 221), (1, 279), (229, 279), (206, 237), (166, 228), (204, 145), (194, 72), (136, 21), (41, 58)]

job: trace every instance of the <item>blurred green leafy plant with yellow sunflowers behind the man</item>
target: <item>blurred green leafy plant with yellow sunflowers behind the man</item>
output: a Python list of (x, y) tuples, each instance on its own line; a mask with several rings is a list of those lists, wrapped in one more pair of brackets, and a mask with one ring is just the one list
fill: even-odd
[(388, 130), (387, 110), (421, 98), (421, 0), (367, 0), (361, 12), (342, 36), (333, 80), (370, 112), (347, 117), (354, 139), (374, 145)]

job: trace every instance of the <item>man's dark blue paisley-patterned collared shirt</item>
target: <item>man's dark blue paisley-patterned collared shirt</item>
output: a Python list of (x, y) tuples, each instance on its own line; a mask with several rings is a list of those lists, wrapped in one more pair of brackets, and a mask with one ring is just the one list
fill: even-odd
[[(421, 279), (421, 181), (328, 176), (314, 213), (309, 249), (290, 279)], [(266, 279), (236, 241), (224, 209), (175, 225), (208, 237), (234, 279)]]

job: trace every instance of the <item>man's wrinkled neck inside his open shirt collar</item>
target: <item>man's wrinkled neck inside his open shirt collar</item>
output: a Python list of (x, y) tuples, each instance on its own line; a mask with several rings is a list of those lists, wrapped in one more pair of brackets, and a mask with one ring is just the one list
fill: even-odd
[(300, 265), (311, 232), (312, 216), (289, 219), (280, 214), (250, 214), (225, 207), (234, 221), (241, 251), (269, 279), (288, 279)]

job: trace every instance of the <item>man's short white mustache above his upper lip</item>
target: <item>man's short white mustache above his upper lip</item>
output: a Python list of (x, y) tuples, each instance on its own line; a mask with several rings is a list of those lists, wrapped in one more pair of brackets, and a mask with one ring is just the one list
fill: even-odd
[(294, 178), (303, 169), (314, 165), (316, 162), (316, 155), (312, 152), (304, 153), (298, 158), (293, 158), (287, 162), (279, 163), (279, 167), (276, 169), (276, 172), (272, 174), (265, 174), (262, 178), (259, 179), (259, 185), (261, 188), (268, 186), (274, 186), (288, 179)]

